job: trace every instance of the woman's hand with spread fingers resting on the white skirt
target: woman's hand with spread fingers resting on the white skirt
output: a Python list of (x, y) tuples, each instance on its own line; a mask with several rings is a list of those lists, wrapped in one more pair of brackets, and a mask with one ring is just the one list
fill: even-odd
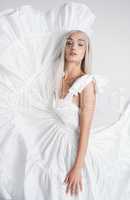
[(79, 188), (82, 191), (82, 176), (81, 176), (81, 169), (78, 167), (72, 167), (72, 169), (67, 174), (64, 183), (67, 184), (66, 193), (71, 192), (71, 195), (75, 193), (75, 195), (78, 194)]

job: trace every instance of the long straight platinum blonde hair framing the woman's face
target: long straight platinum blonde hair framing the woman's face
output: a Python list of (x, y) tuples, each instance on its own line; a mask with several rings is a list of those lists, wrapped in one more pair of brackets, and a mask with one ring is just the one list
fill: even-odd
[(56, 98), (58, 98), (58, 92), (61, 88), (61, 79), (63, 77), (64, 71), (65, 71), (65, 47), (66, 47), (66, 42), (68, 37), (75, 32), (81, 32), (84, 33), (86, 36), (86, 48), (84, 58), (82, 59), (81, 62), (81, 70), (83, 73), (91, 73), (92, 71), (92, 46), (91, 46), (91, 41), (88, 35), (81, 31), (81, 30), (72, 30), (67, 32), (64, 37), (62, 37), (62, 41), (60, 41), (60, 52), (58, 54), (58, 67), (56, 69)]

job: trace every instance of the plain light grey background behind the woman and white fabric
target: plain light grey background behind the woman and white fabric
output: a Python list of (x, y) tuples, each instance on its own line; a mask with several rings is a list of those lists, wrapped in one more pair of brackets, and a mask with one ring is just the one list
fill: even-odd
[[(118, 87), (130, 94), (130, 1), (73, 0), (84, 2), (96, 15), (93, 26), (94, 72), (107, 75)], [(0, 0), (0, 11), (31, 4), (46, 11), (67, 0)]]

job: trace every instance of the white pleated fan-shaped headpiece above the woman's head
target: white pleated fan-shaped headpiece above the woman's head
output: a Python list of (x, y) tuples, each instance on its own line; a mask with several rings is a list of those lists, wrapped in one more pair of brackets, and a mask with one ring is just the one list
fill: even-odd
[(92, 25), (96, 16), (85, 3), (64, 3), (46, 13), (48, 28), (51, 32), (84, 31), (92, 36)]

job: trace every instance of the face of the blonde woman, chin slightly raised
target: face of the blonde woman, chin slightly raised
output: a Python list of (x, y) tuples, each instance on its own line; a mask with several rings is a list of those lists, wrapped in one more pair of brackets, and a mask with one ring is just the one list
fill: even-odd
[(82, 32), (72, 33), (66, 41), (65, 61), (81, 63), (86, 51), (86, 36)]

